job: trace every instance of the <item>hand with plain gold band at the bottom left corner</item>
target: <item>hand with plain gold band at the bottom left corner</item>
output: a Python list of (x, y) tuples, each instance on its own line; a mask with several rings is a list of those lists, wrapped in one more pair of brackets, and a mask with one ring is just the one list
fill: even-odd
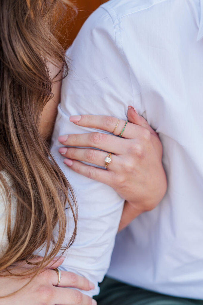
[[(50, 268), (58, 267), (63, 260), (53, 261)], [(30, 266), (25, 262), (16, 264), (24, 272)], [(22, 267), (24, 266), (24, 267)], [(16, 276), (3, 277), (0, 275), (0, 296), (6, 296), (23, 287), (30, 278)], [(70, 288), (91, 290), (94, 285), (86, 278), (67, 271), (61, 271), (60, 284), (57, 285), (58, 274), (55, 270), (46, 269), (39, 273), (33, 280), (12, 296), (0, 299), (1, 305), (96, 305), (96, 301), (82, 292)], [(69, 288), (66, 288), (69, 287)]]

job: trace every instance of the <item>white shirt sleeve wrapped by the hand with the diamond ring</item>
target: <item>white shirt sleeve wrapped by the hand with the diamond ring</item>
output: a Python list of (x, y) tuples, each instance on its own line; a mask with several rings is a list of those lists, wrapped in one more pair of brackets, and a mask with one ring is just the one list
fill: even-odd
[[(108, 185), (83, 177), (64, 165), (58, 153), (61, 144), (57, 137), (93, 131), (70, 123), (70, 115), (112, 115), (126, 119), (127, 107), (132, 105), (132, 88), (129, 68), (115, 33), (111, 16), (100, 7), (85, 22), (68, 49), (69, 74), (63, 80), (52, 139), (52, 153), (78, 202), (77, 237), (61, 268), (92, 281), (96, 288), (84, 292), (90, 296), (98, 294), (98, 282), (103, 280), (109, 267), (124, 199)], [(74, 226), (69, 210), (67, 220), (65, 242)]]

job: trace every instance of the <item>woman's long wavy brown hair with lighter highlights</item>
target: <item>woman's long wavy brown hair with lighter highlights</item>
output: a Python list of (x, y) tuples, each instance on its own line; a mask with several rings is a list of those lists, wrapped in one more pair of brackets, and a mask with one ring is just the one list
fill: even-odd
[[(61, 9), (63, 5), (63, 8)], [(54, 35), (53, 16), (67, 8), (66, 0), (0, 1), (0, 182), (5, 188), (9, 246), (0, 259), (0, 271), (15, 261), (33, 258), (45, 245), (45, 257), (29, 274), (39, 272), (76, 235), (77, 208), (71, 187), (39, 134), (42, 109), (53, 97), (48, 61), (67, 75), (63, 48)], [(2, 171), (12, 177), (17, 198), (11, 226), (12, 194)], [(72, 198), (72, 199), (70, 199)], [(67, 245), (65, 205), (74, 217)], [(53, 229), (58, 225), (57, 236)]]

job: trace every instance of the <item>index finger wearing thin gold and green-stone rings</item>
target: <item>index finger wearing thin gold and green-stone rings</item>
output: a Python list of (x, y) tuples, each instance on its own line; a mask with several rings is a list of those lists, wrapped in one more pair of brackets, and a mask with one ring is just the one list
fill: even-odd
[[(105, 130), (117, 136), (121, 134), (126, 124), (126, 120), (100, 115), (70, 116), (70, 121), (79, 126)], [(133, 139), (142, 132), (143, 127), (128, 123), (122, 133), (122, 138)]]

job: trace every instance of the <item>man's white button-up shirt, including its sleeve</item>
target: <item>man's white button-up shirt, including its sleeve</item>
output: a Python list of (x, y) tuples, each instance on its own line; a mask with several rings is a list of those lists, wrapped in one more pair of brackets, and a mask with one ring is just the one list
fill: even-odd
[[(102, 280), (123, 199), (66, 167), (57, 137), (92, 131), (70, 123), (70, 115), (125, 120), (132, 105), (159, 133), (168, 190), (153, 211), (117, 235), (108, 275), (203, 299), (202, 36), (202, 0), (111, 0), (89, 17), (68, 49), (70, 71), (63, 80), (52, 142), (79, 209), (78, 235), (64, 269), (94, 283)], [(71, 228), (68, 213), (67, 218)]]

